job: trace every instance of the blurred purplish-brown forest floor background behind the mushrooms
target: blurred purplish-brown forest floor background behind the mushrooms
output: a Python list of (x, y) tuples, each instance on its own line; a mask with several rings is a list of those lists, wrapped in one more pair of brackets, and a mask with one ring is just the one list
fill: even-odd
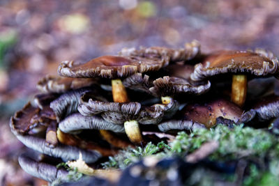
[(24, 148), (8, 123), (61, 61), (194, 39), (202, 52), (261, 47), (278, 56), (278, 7), (277, 0), (0, 0), (0, 185), (47, 184), (20, 169)]

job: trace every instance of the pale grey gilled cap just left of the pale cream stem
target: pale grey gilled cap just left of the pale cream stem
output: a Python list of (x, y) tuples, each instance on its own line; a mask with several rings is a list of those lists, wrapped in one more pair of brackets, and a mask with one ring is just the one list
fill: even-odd
[(125, 132), (123, 125), (108, 123), (98, 116), (82, 116), (79, 113), (72, 114), (59, 123), (59, 129), (65, 133), (73, 133), (77, 130), (112, 130), (113, 132)]

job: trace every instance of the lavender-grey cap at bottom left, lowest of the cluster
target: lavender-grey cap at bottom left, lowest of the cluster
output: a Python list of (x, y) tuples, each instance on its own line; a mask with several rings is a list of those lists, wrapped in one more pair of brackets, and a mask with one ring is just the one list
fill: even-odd
[(20, 155), (18, 162), (24, 171), (36, 178), (47, 180), (52, 183), (54, 180), (66, 182), (68, 180), (68, 171), (65, 169), (57, 169), (56, 166), (37, 162), (26, 154)]

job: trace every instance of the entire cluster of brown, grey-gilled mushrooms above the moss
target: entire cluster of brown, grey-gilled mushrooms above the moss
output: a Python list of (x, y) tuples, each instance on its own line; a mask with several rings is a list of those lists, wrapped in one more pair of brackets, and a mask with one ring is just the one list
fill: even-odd
[[(25, 146), (45, 157), (66, 162), (82, 155), (98, 167), (103, 157), (167, 141), (180, 130), (269, 123), (279, 116), (279, 97), (276, 91), (250, 95), (248, 81), (270, 77), (276, 84), (278, 68), (271, 52), (202, 54), (197, 41), (183, 49), (122, 49), (117, 56), (83, 64), (64, 61), (61, 77), (41, 79), (43, 94), (15, 113), (10, 127)], [(66, 171), (38, 157), (22, 155), (19, 161), (38, 178), (66, 179)]]

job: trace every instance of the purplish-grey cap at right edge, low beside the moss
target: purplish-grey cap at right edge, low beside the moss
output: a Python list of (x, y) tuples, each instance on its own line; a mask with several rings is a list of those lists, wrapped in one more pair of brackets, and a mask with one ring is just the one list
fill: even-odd
[(255, 117), (257, 117), (259, 121), (268, 121), (271, 118), (278, 118), (279, 96), (269, 95), (265, 98), (261, 98), (259, 102), (256, 102), (253, 109), (246, 111), (246, 113), (241, 116), (239, 123), (248, 123)]

